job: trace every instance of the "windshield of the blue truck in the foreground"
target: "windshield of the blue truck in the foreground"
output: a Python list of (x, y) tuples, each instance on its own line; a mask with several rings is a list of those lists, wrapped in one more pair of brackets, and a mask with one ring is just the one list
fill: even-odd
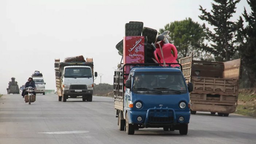
[(183, 93), (187, 91), (181, 72), (136, 72), (132, 77), (133, 90), (159, 90)]

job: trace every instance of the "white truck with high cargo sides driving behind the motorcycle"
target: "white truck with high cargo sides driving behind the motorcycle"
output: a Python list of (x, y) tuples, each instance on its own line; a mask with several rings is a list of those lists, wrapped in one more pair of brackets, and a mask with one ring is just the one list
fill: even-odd
[(93, 60), (86, 62), (60, 62), (55, 59), (55, 79), (59, 101), (66, 102), (68, 98), (82, 98), (92, 101), (94, 77)]

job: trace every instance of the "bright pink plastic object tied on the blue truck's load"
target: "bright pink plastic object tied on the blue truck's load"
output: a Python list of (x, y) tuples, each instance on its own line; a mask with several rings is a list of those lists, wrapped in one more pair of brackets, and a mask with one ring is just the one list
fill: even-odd
[[(166, 43), (163, 44), (162, 50), (163, 50), (163, 57), (160, 48), (156, 48), (154, 51), (155, 59), (158, 63), (163, 63), (163, 59), (165, 63), (177, 63), (176, 59), (178, 58), (178, 52), (177, 48), (171, 44)], [(171, 65), (172, 67), (179, 67), (179, 65)]]

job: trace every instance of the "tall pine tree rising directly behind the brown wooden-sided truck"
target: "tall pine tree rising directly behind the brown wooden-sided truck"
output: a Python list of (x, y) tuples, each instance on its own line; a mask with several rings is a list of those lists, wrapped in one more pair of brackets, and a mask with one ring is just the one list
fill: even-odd
[(216, 61), (229, 61), (237, 53), (237, 48), (234, 46), (236, 23), (231, 22), (230, 18), (236, 12), (236, 4), (240, 0), (214, 1), (216, 4), (212, 3), (211, 13), (206, 12), (206, 9), (199, 5), (199, 10), (202, 11), (202, 15), (199, 18), (214, 26), (213, 32), (209, 29), (207, 31), (209, 40), (212, 43), (206, 51), (211, 52), (215, 56)]

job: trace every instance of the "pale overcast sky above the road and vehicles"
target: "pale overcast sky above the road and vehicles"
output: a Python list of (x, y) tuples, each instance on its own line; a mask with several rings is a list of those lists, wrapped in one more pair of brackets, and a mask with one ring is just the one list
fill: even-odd
[[(159, 30), (175, 20), (203, 23), (199, 5), (210, 11), (211, 0), (0, 0), (0, 93), (15, 77), (19, 87), (31, 74), (43, 73), (46, 89), (55, 88), (54, 59), (83, 55), (93, 58), (102, 83), (113, 84), (121, 60), (115, 48), (125, 23), (140, 21)], [(237, 4), (238, 16), (246, 0)], [(209, 26), (206, 24), (206, 26)], [(100, 77), (95, 81), (100, 83)]]

